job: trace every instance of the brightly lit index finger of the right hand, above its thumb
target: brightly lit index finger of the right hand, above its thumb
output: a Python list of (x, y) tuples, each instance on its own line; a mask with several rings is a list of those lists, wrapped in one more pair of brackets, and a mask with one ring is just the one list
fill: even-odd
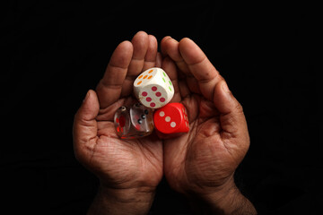
[(205, 99), (212, 101), (216, 83), (223, 80), (221, 75), (193, 40), (181, 39), (179, 41), (179, 52), (185, 63), (188, 64), (189, 72), (196, 78)]

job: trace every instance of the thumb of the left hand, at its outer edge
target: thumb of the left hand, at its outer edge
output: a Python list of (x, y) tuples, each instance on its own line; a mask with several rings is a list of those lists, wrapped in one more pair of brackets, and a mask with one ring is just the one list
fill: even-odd
[(89, 90), (82, 106), (74, 116), (73, 137), (74, 151), (78, 159), (83, 159), (91, 153), (97, 140), (98, 125), (95, 117), (100, 109), (98, 97), (93, 90)]

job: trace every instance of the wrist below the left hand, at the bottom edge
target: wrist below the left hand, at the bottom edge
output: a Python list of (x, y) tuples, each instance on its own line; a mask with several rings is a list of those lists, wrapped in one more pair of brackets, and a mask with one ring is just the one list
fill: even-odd
[(146, 214), (154, 193), (152, 187), (113, 189), (100, 185), (88, 214)]

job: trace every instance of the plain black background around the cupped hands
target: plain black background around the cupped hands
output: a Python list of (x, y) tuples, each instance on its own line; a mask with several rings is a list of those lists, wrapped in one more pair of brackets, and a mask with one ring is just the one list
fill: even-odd
[[(74, 113), (118, 43), (145, 30), (159, 41), (195, 40), (244, 107), (251, 146), (236, 181), (259, 213), (320, 214), (315, 7), (1, 1), (1, 210), (86, 212), (98, 180), (74, 159)], [(163, 180), (152, 214), (187, 213), (185, 199)]]

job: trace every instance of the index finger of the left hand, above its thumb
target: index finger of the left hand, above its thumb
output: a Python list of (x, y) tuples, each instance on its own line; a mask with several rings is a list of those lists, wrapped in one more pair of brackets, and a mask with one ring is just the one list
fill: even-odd
[(120, 98), (132, 54), (133, 45), (129, 41), (120, 43), (113, 52), (106, 72), (96, 88), (100, 108), (108, 107)]

